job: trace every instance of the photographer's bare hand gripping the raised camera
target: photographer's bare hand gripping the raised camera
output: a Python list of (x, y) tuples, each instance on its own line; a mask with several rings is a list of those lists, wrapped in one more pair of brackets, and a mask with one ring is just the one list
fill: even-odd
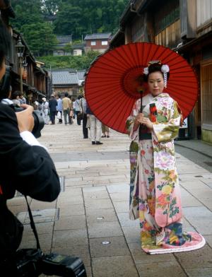
[(18, 129), (21, 132), (23, 131), (33, 131), (34, 127), (34, 117), (33, 117), (33, 107), (30, 105), (20, 105), (20, 107), (23, 107), (23, 111), (16, 112), (16, 117), (18, 121)]

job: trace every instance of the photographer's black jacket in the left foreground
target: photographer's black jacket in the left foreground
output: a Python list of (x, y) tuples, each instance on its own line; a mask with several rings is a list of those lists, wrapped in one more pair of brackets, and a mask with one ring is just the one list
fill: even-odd
[[(16, 190), (40, 201), (54, 201), (60, 191), (59, 177), (49, 154), (40, 146), (30, 146), (20, 137), (15, 112), (0, 103), (0, 255), (1, 236), (8, 214), (6, 200)], [(8, 219), (7, 219), (8, 220)], [(12, 216), (10, 224), (16, 224)], [(14, 228), (16, 228), (14, 226)], [(10, 228), (13, 229), (13, 228)], [(6, 231), (5, 231), (6, 232)], [(11, 231), (12, 232), (12, 231)]]

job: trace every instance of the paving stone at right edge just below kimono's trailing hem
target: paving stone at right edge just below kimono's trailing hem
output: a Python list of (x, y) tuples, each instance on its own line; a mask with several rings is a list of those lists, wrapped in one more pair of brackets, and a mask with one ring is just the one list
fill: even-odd
[(212, 249), (207, 244), (198, 250), (175, 253), (175, 257), (185, 270), (211, 268), (212, 273)]

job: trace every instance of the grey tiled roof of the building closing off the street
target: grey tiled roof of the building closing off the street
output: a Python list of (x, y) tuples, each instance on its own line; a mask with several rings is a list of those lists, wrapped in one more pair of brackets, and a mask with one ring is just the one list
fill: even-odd
[(53, 85), (79, 84), (80, 80), (84, 79), (83, 74), (85, 72), (86, 71), (76, 71), (74, 69), (55, 69), (52, 70), (52, 83)]

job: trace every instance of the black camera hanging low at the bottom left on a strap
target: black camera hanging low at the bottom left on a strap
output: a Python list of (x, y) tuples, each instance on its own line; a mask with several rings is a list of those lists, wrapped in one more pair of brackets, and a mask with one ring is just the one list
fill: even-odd
[(17, 277), (47, 276), (86, 277), (86, 269), (78, 257), (43, 254), (40, 249), (20, 249), (16, 252)]

